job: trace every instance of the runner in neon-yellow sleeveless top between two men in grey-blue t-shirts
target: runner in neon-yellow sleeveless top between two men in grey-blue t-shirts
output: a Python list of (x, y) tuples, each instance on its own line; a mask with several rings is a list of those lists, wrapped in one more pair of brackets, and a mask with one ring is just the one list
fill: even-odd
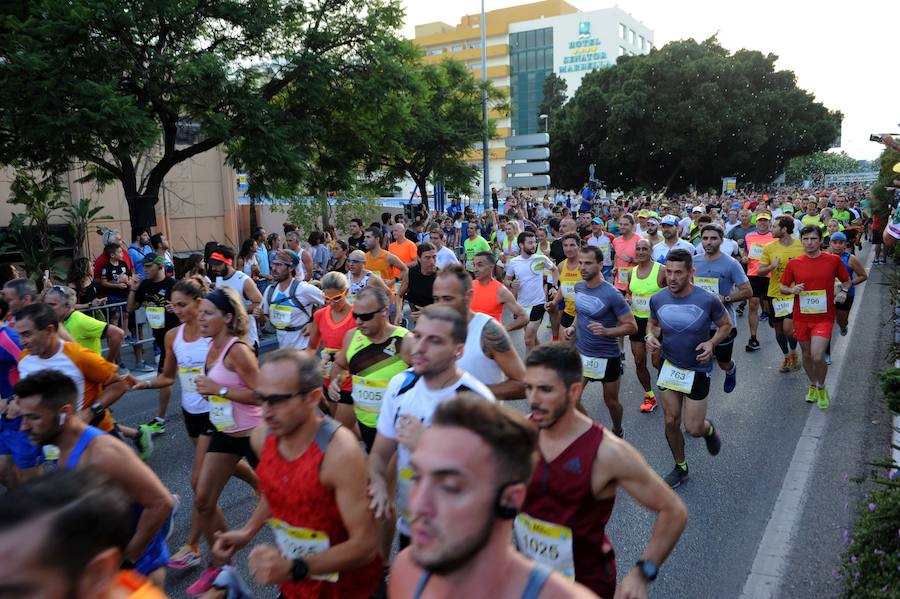
[[(656, 393), (650, 382), (650, 371), (647, 369), (647, 319), (650, 318), (650, 298), (666, 285), (666, 271), (659, 262), (653, 260), (653, 246), (650, 241), (642, 239), (634, 248), (637, 264), (628, 280), (628, 301), (637, 324), (637, 331), (629, 335), (631, 355), (634, 356), (634, 370), (638, 382), (644, 389), (644, 401), (639, 410), (649, 414), (656, 409)], [(654, 360), (659, 370), (660, 364)]]

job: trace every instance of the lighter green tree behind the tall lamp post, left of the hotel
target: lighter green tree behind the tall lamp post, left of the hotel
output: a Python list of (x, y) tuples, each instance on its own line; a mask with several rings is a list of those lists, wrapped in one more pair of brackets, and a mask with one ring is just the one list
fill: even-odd
[[(385, 115), (385, 133), (373, 144), (369, 172), (384, 182), (409, 176), (428, 207), (428, 180), (443, 181), (447, 191), (468, 193), (481, 174), (466, 155), (482, 141), (481, 93), (485, 84), (455, 60), (434, 64), (406, 62), (404, 85), (394, 89)], [(503, 94), (486, 84), (491, 106), (506, 110)], [(488, 122), (489, 136), (496, 123)]]

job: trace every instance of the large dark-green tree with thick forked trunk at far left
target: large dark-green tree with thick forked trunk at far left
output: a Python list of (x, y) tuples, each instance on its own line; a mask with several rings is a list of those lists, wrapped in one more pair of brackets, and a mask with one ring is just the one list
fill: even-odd
[(398, 47), (397, 0), (43, 0), (0, 8), (0, 163), (87, 165), (132, 227), (216, 146), (257, 197), (318, 170), (318, 111)]

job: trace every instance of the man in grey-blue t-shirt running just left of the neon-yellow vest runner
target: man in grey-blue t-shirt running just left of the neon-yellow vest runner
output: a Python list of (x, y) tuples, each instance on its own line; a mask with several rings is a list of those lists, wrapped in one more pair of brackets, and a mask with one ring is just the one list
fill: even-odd
[(594, 246), (581, 248), (578, 269), (583, 280), (575, 285), (575, 322), (563, 335), (566, 340), (575, 339), (584, 366), (584, 385), (590, 381), (603, 384), (603, 402), (609, 410), (613, 433), (624, 437), (618, 338), (636, 333), (637, 323), (622, 294), (603, 279), (602, 264), (603, 250)]

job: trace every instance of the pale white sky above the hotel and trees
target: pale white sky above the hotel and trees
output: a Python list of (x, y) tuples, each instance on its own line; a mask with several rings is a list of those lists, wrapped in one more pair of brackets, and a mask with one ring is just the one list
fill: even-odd
[[(718, 33), (729, 50), (747, 48), (779, 57), (776, 67), (792, 70), (797, 84), (817, 101), (844, 114), (841, 148), (859, 160), (883, 148), (872, 133), (900, 133), (900, 1), (854, 0), (567, 0), (582, 11), (618, 6), (653, 30), (654, 45)], [(459, 24), (481, 10), (480, 0), (402, 0), (403, 35), (432, 21)], [(527, 4), (527, 0), (485, 0), (485, 10)], [(893, 61), (893, 66), (891, 65)]]

